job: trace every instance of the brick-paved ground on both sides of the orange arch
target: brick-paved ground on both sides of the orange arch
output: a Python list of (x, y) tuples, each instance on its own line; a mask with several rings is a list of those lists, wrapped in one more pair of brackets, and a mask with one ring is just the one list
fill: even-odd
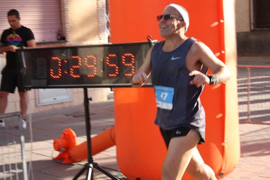
[[(90, 103), (90, 113), (93, 135), (114, 125), (113, 100), (101, 103)], [(55, 138), (61, 137), (61, 133), (65, 128), (72, 128), (75, 131), (79, 143), (86, 141), (85, 120), (83, 115), (84, 107), (82, 105), (39, 112), (32, 115), (33, 150), (31, 150), (31, 133), (29, 127), (25, 130), (25, 148), (28, 165), (30, 159), (32, 160), (34, 179), (72, 179), (79, 170), (81, 170), (82, 165), (84, 165), (86, 161), (73, 165), (62, 165), (52, 161), (52, 157), (56, 157), (58, 154), (58, 152), (53, 152), (52, 143)], [(4, 157), (6, 159), (5, 168), (8, 170), (8, 161), (11, 162), (12, 167), (15, 167), (15, 159), (9, 157), (7, 146), (2, 145), (6, 145), (8, 141), (12, 141), (12, 138), (17, 138), (16, 141), (19, 140), (18, 133), (16, 133), (18, 130), (16, 121), (6, 121), (6, 125), (6, 128), (0, 129), (0, 162), (3, 160), (2, 157)], [(270, 125), (240, 124), (239, 127), (241, 158), (235, 170), (224, 179), (270, 180)], [(15, 148), (13, 145), (10, 145), (10, 149), (11, 152)], [(16, 154), (19, 156), (19, 145), (16, 146), (16, 149)], [(4, 153), (1, 152), (2, 150)], [(99, 165), (118, 170), (115, 146), (95, 155), (94, 158)], [(17, 159), (17, 163), (19, 176), (22, 177), (22, 164), (20, 159)], [(2, 162), (0, 165), (1, 164)], [(121, 177), (119, 172), (108, 170), (112, 174)], [(2, 172), (3, 167), (0, 166), (0, 179), (3, 179)], [(7, 176), (9, 175), (10, 174), (7, 174)], [(12, 176), (13, 179), (15, 179), (15, 172), (12, 172)], [(97, 170), (94, 170), (94, 178), (97, 180), (110, 179)], [(85, 179), (85, 174), (78, 179)]]

